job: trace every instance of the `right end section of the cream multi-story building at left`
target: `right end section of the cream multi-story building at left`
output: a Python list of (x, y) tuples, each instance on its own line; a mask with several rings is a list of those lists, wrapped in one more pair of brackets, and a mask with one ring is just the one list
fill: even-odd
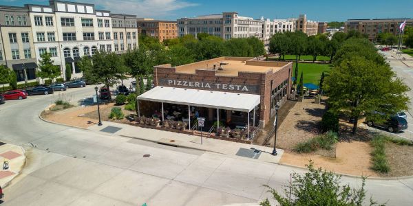
[(111, 14), (114, 52), (122, 54), (138, 47), (138, 23), (135, 15)]

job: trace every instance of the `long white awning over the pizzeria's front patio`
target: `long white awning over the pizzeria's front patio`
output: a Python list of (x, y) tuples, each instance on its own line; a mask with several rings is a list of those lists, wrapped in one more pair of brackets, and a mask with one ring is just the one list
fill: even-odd
[(138, 100), (249, 112), (260, 104), (260, 95), (158, 86)]

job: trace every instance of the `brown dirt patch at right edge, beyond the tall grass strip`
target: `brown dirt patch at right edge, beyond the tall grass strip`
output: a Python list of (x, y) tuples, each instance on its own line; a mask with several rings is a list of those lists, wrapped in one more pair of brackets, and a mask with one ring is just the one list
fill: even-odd
[(411, 176), (413, 175), (413, 147), (400, 146), (391, 142), (385, 144), (385, 154), (388, 157), (390, 172), (381, 176)]

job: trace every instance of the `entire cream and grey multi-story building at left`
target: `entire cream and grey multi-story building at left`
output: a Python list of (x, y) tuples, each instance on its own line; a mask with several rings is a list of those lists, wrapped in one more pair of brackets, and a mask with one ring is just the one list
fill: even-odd
[[(77, 62), (81, 56), (92, 56), (98, 49), (122, 52), (138, 47), (136, 16), (96, 10), (90, 3), (51, 0), (49, 5), (0, 6), (0, 23), (0, 64), (4, 59), (19, 81), (24, 75), (36, 79), (36, 62), (45, 52), (61, 68), (61, 78), (65, 78), (66, 69), (79, 78), (82, 74)], [(120, 31), (125, 34), (121, 36)]]

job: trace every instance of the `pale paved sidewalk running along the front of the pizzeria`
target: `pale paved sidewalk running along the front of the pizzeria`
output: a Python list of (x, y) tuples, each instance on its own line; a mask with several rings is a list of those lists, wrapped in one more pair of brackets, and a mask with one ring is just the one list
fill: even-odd
[[(185, 147), (185, 148), (207, 150), (209, 152), (217, 152), (217, 153), (231, 155), (235, 157), (240, 157), (240, 156), (236, 156), (240, 148), (245, 148), (245, 149), (255, 148), (256, 150), (262, 151), (258, 159), (260, 161), (266, 161), (270, 163), (279, 162), (279, 159), (281, 159), (282, 154), (284, 153), (284, 150), (277, 149), (278, 155), (273, 156), (271, 155), (271, 152), (273, 152), (273, 148), (268, 148), (265, 146), (243, 144), (243, 143), (238, 143), (238, 142), (233, 142), (233, 141), (224, 141), (220, 139), (212, 139), (212, 138), (206, 138), (206, 137), (202, 137), (202, 144), (201, 144), (200, 136), (173, 133), (173, 132), (167, 132), (167, 131), (156, 130), (156, 129), (151, 129), (151, 128), (142, 128), (139, 126), (131, 126), (131, 125), (119, 124), (115, 122), (102, 122), (102, 123), (103, 123), (103, 126), (94, 125), (94, 126), (90, 126), (88, 129), (100, 132), (101, 130), (107, 128), (107, 126), (112, 126), (112, 127), (115, 127), (115, 128), (112, 128), (113, 129), (112, 134), (114, 135), (121, 135), (124, 137), (133, 137), (137, 139), (154, 141), (154, 142), (158, 142), (161, 144), (170, 144), (170, 145)], [(106, 134), (110, 134), (110, 133), (106, 133)], [(244, 158), (244, 157), (240, 157), (240, 158)]]

